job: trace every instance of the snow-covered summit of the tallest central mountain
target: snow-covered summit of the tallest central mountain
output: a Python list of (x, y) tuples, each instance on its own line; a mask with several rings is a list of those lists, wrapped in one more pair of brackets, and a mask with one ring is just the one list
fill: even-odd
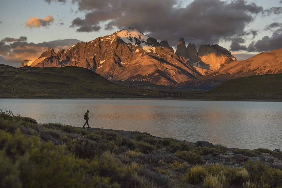
[(125, 43), (133, 44), (135, 46), (137, 45), (143, 46), (142, 43), (145, 44), (145, 42), (149, 38), (148, 36), (144, 35), (140, 31), (133, 29), (131, 27), (128, 29), (117, 31), (116, 35), (120, 37)]

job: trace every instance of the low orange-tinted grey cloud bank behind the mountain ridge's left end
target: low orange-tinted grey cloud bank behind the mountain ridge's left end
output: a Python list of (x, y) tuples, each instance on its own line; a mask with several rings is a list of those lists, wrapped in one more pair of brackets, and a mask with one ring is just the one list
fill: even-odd
[(53, 48), (55, 52), (68, 49), (73, 44), (80, 42), (77, 39), (63, 39), (35, 44), (28, 43), (27, 37), (4, 38), (0, 41), (0, 63), (19, 66), (24, 60), (34, 61), (41, 53)]

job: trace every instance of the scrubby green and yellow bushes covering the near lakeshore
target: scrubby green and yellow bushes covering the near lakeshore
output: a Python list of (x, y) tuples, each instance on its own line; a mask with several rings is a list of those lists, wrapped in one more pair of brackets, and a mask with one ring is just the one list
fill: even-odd
[[(165, 150), (163, 148), (166, 148)], [(202, 155), (230, 148), (195, 147), (190, 142), (137, 132), (37, 124), (0, 112), (0, 187), (281, 187), (282, 165), (248, 162), (244, 167), (204, 164)], [(231, 149), (247, 156), (268, 149)]]

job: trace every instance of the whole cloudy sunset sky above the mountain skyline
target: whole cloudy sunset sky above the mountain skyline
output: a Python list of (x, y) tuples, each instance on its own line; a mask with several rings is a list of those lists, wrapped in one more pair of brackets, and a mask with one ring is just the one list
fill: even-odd
[(0, 63), (17, 67), (129, 27), (174, 49), (183, 37), (244, 60), (282, 48), (282, 0), (1, 0)]

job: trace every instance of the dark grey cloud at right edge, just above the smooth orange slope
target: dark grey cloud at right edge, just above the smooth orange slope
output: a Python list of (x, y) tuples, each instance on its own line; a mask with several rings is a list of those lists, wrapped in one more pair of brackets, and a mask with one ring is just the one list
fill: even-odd
[(248, 46), (248, 52), (268, 52), (282, 48), (282, 28), (275, 30), (271, 37), (265, 36)]

